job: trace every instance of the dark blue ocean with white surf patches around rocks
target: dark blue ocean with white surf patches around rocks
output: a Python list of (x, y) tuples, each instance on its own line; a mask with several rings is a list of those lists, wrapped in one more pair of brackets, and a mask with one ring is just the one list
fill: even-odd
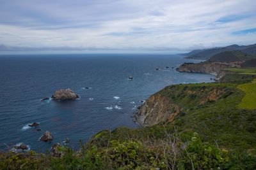
[[(1, 55), (0, 151), (25, 143), (45, 152), (65, 138), (77, 149), (80, 139), (86, 142), (104, 129), (138, 127), (132, 116), (150, 95), (167, 85), (214, 78), (178, 73), (183, 62), (200, 60), (156, 54)], [(59, 89), (72, 89), (81, 99), (41, 101)], [(29, 128), (33, 122), (42, 131)], [(39, 140), (45, 131), (52, 132), (52, 143)]]

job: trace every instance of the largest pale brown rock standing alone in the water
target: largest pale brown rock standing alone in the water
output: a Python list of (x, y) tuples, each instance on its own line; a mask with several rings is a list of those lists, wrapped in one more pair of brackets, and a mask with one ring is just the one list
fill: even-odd
[(79, 96), (71, 89), (61, 89), (52, 95), (54, 101), (67, 101), (78, 99)]

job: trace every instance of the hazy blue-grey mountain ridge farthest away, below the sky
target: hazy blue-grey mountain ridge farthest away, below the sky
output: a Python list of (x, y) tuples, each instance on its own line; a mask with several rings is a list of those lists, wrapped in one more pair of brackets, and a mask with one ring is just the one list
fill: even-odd
[(240, 50), (248, 55), (256, 55), (256, 44), (254, 45), (230, 45), (225, 47), (216, 47), (216, 48), (209, 48), (204, 50), (193, 50), (189, 53), (184, 53), (183, 55), (186, 56), (186, 59), (202, 59), (207, 60), (213, 55), (216, 55), (221, 52), (227, 51), (234, 51)]

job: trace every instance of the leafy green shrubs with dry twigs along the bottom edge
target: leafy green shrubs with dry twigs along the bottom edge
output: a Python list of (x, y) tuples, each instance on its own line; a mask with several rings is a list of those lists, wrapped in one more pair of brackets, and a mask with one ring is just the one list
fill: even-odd
[[(164, 128), (164, 127), (163, 127)], [(194, 132), (186, 142), (180, 134), (162, 139), (111, 140), (105, 146), (81, 145), (79, 152), (58, 147), (61, 157), (29, 153), (0, 154), (0, 169), (254, 169), (256, 154), (232, 153), (202, 141)]]

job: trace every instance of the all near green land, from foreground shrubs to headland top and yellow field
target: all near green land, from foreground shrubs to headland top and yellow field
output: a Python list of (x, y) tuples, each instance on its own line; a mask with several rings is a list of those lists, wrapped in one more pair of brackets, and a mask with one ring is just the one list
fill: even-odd
[(249, 72), (157, 92), (182, 108), (173, 122), (102, 131), (79, 151), (60, 145), (55, 153), (0, 153), (0, 169), (256, 169), (255, 75)]

